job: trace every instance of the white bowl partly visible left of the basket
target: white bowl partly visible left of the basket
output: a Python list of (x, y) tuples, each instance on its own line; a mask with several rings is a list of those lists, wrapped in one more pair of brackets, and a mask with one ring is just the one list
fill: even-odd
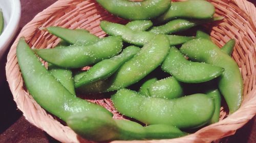
[(0, 35), (0, 59), (2, 59), (18, 30), (21, 8), (19, 0), (0, 0), (0, 8), (5, 21), (4, 31)]

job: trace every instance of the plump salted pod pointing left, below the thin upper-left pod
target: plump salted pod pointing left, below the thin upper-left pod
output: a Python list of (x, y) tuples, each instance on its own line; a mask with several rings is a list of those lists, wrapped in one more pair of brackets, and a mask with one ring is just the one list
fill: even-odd
[(53, 49), (34, 49), (45, 61), (63, 68), (80, 68), (109, 59), (122, 49), (122, 39), (112, 36), (88, 46), (72, 45)]

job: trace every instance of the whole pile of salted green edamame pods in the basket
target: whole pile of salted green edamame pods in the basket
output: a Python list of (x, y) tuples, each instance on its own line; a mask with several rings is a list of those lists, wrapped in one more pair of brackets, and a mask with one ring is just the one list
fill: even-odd
[[(219, 48), (202, 31), (196, 36), (173, 35), (221, 20), (213, 17), (215, 8), (210, 3), (97, 2), (131, 22), (101, 21), (109, 35), (104, 38), (81, 29), (46, 27), (62, 39), (58, 46), (32, 50), (24, 38), (17, 45), (29, 93), (78, 135), (94, 141), (175, 138), (218, 122), (221, 95), (230, 114), (240, 107), (243, 80), (230, 57), (234, 40)], [(48, 69), (36, 54), (48, 62)], [(85, 66), (91, 68), (77, 72)], [(139, 83), (138, 91), (130, 88)], [(98, 93), (111, 93), (116, 110), (139, 122), (113, 119), (104, 107), (76, 97)]]

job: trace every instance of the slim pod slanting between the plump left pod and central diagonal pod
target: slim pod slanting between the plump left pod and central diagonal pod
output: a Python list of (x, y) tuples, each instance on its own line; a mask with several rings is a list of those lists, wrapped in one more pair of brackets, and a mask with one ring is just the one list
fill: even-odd
[(110, 77), (124, 62), (131, 59), (139, 51), (140, 48), (136, 46), (126, 47), (121, 54), (111, 59), (102, 60), (89, 71), (80, 72), (74, 76), (75, 87), (79, 88), (82, 85)]

